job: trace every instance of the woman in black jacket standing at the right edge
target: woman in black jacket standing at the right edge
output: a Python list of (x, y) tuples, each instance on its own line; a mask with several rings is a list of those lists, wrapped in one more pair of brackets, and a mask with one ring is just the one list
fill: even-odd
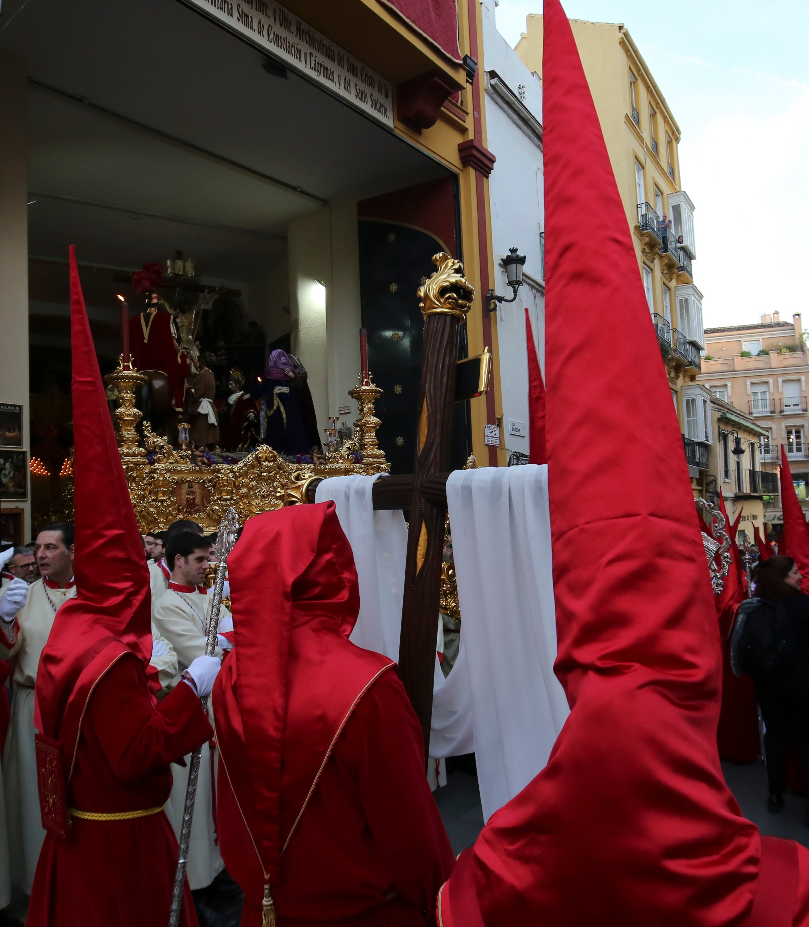
[(809, 785), (809, 596), (791, 557), (762, 561), (753, 581), (756, 598), (742, 606), (734, 633), (735, 662), (755, 683), (765, 727), (767, 809), (777, 814), (784, 806), (790, 741), (800, 750)]

